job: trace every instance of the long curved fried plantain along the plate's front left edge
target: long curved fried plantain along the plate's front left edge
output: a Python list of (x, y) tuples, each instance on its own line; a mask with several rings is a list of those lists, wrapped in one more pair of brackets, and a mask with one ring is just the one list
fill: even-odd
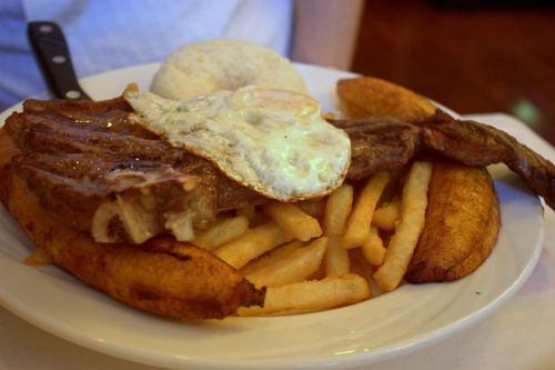
[[(13, 148), (0, 131), (0, 148)], [(10, 171), (0, 151), (1, 200), (54, 263), (109, 296), (176, 319), (223, 318), (240, 306), (261, 304), (264, 293), (235, 269), (193, 244), (169, 238), (143, 244), (98, 243), (42, 209)]]

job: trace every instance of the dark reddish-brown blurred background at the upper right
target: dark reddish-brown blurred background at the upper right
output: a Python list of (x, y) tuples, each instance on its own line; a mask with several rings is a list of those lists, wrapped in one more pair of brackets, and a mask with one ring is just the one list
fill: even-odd
[(367, 0), (352, 70), (463, 114), (513, 114), (555, 146), (555, 8), (435, 3)]

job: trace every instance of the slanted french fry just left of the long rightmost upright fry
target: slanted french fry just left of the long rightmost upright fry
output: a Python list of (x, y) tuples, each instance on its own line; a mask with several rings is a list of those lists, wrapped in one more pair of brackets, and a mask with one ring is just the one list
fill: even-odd
[(366, 240), (372, 223), (372, 214), (390, 180), (390, 172), (380, 171), (366, 182), (349, 217), (345, 234), (343, 236), (343, 248), (355, 248)]

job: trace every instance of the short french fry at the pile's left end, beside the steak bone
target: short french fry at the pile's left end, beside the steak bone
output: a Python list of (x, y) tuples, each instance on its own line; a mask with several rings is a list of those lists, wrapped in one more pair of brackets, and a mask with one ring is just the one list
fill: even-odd
[(224, 219), (210, 229), (203, 231), (193, 240), (193, 244), (206, 250), (214, 250), (241, 237), (249, 228), (249, 220), (244, 216)]

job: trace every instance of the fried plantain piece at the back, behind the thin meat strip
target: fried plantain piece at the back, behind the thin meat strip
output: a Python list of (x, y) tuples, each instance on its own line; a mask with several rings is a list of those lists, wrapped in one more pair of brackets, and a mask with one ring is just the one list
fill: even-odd
[(435, 106), (398, 84), (373, 77), (337, 81), (337, 96), (350, 118), (391, 116), (413, 122), (433, 116)]

